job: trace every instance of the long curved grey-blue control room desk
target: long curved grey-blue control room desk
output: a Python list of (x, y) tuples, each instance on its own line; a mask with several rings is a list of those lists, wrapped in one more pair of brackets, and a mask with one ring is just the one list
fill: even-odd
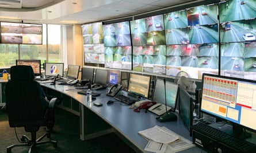
[[(103, 104), (102, 107), (97, 107), (87, 104), (86, 96), (77, 93), (81, 89), (75, 89), (75, 87), (70, 85), (58, 85), (58, 83), (56, 85), (50, 85), (49, 83), (41, 84), (41, 86), (47, 94), (62, 96), (64, 105), (67, 103), (67, 99), (69, 99), (70, 108), (63, 106), (63, 104), (60, 107), (74, 113), (77, 112), (77, 115), (79, 115), (81, 140), (115, 132), (135, 151), (144, 152), (147, 140), (142, 138), (137, 132), (154, 127), (155, 125), (165, 126), (184, 138), (192, 140), (179, 117), (177, 121), (160, 123), (155, 119), (156, 115), (151, 112), (145, 113), (144, 109), (139, 113), (133, 112), (133, 109), (128, 109), (127, 105), (121, 105), (118, 101), (107, 105), (106, 101), (113, 100), (113, 97), (106, 96), (106, 89), (97, 91), (104, 92), (95, 100)], [(77, 104), (79, 108), (77, 108)], [(79, 110), (74, 111), (74, 109)], [(200, 148), (193, 147), (182, 152), (201, 151)]]

